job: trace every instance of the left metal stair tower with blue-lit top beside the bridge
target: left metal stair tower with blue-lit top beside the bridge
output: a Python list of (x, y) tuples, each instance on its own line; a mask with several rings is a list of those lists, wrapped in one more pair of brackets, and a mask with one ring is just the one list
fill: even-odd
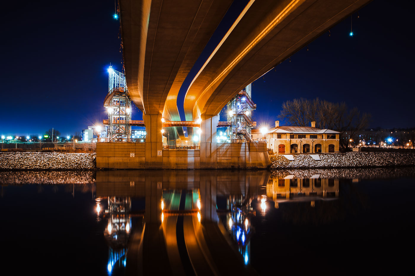
[(110, 140), (131, 137), (131, 99), (128, 95), (125, 75), (108, 68), (108, 94), (104, 100), (108, 111), (108, 138)]

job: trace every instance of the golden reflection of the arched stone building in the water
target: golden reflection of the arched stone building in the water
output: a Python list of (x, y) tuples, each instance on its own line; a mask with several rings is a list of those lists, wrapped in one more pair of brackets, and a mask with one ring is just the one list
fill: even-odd
[(305, 200), (339, 196), (339, 179), (324, 179), (318, 174), (310, 178), (294, 178), (288, 175), (284, 178), (270, 178), (266, 185), (266, 195), (272, 198), (278, 208), (278, 202), (290, 198), (309, 196)]

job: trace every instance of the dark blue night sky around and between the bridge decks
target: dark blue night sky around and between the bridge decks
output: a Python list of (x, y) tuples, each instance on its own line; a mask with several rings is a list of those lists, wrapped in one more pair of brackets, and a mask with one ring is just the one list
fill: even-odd
[[(235, 1), (185, 85), (246, 4)], [(58, 129), (62, 135), (107, 118), (107, 67), (121, 70), (114, 1), (8, 2), (2, 24), (1, 135)], [(371, 127), (413, 127), (412, 9), (375, 0), (259, 78), (254, 119), (273, 124), (282, 102), (296, 97), (346, 102), (372, 114)], [(187, 87), (182, 87), (183, 101)], [(183, 105), (178, 104), (179, 110)], [(133, 119), (141, 119), (138, 109)]]

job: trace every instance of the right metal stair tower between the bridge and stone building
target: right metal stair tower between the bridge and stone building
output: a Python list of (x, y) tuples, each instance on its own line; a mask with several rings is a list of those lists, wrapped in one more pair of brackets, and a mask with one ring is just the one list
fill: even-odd
[(252, 110), (256, 104), (251, 99), (251, 84), (240, 91), (227, 104), (227, 121), (232, 125), (227, 128), (227, 136), (230, 139), (245, 139), (252, 141), (251, 127), (256, 126), (251, 118)]

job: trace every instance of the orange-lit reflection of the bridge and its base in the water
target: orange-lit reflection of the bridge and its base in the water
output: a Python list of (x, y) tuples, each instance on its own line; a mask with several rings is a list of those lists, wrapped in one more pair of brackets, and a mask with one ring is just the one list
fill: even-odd
[[(144, 226), (131, 229), (127, 257), (123, 257), (127, 272), (171, 275), (190, 269), (196, 275), (253, 275), (244, 266), (249, 251), (242, 255), (229, 246), (232, 236), (220, 223), (216, 198), (256, 198), (269, 176), (268, 171), (98, 171), (96, 186), (101, 198), (145, 199)], [(237, 213), (233, 216), (237, 225)], [(111, 225), (111, 230), (116, 227)], [(119, 228), (125, 229), (125, 224)], [(236, 228), (232, 233), (242, 239)], [(249, 236), (243, 236), (244, 249), (249, 249)]]

